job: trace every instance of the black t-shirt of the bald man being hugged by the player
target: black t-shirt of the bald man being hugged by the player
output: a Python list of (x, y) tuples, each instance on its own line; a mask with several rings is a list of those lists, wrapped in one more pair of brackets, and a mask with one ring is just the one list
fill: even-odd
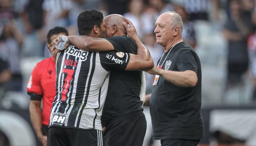
[[(106, 38), (117, 52), (137, 54), (137, 45), (127, 36)], [(141, 71), (111, 70), (108, 94), (101, 116), (102, 126), (115, 117), (141, 110)]]

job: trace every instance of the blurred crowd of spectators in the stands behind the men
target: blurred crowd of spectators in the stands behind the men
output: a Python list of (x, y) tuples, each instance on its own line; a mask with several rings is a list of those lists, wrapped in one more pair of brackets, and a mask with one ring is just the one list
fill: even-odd
[[(78, 35), (77, 16), (87, 9), (99, 10), (104, 16), (122, 14), (130, 19), (155, 64), (163, 53), (154, 35), (154, 23), (161, 13), (176, 11), (181, 15), (182, 37), (196, 51), (200, 48), (196, 24), (206, 22), (210, 29), (221, 32), (227, 42), (222, 98), (225, 101), (226, 91), (245, 86), (244, 80), (249, 78), (254, 87), (250, 99), (256, 100), (255, 0), (0, 0), (0, 105), (5, 93), (26, 92), (23, 86), (28, 78), (22, 72), (22, 60), (50, 56), (46, 48), (48, 30), (62, 26), (70, 35)], [(147, 93), (152, 91), (153, 78), (146, 74)]]

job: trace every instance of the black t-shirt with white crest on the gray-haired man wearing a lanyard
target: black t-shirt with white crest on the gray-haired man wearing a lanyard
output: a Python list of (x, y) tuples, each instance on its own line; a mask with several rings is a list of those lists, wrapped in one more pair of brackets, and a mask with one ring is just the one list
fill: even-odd
[(196, 52), (184, 42), (176, 44), (169, 51), (163, 55), (160, 62), (160, 59), (158, 60), (162, 69), (194, 71), (198, 82), (195, 87), (179, 87), (160, 76), (150, 98), (153, 140), (202, 139), (200, 60)]

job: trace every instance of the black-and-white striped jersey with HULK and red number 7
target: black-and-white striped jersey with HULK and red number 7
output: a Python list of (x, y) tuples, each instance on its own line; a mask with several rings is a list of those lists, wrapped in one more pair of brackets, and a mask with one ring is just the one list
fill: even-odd
[(86, 52), (70, 45), (56, 59), (56, 96), (49, 126), (102, 130), (102, 114), (111, 69), (124, 70), (123, 52)]

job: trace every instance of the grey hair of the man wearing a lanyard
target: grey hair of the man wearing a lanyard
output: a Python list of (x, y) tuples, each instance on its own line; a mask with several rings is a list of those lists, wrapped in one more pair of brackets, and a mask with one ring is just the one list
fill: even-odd
[(164, 12), (164, 13), (172, 14), (172, 17), (171, 17), (171, 28), (173, 29), (174, 26), (179, 26), (180, 27), (179, 34), (181, 35), (182, 31), (183, 31), (183, 22), (182, 22), (181, 16), (178, 13), (176, 13), (175, 11), (167, 11), (167, 12)]

